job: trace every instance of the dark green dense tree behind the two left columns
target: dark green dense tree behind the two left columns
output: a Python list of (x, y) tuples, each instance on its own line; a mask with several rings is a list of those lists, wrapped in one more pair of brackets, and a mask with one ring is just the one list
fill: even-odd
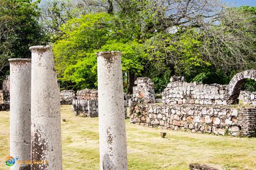
[(38, 1), (0, 1), (0, 77), (8, 73), (8, 58), (30, 58), (29, 47), (41, 44)]

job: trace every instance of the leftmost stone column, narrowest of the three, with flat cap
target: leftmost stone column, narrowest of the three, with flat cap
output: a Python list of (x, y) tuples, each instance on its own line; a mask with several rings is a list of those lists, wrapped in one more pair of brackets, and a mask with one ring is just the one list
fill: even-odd
[[(29, 161), (31, 137), (31, 59), (13, 58), (10, 62), (10, 156)], [(11, 169), (30, 168), (15, 163)]]

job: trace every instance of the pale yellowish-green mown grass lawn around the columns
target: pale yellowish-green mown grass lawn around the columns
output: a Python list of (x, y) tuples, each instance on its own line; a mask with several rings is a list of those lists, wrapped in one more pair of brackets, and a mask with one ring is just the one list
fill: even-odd
[[(99, 169), (98, 118), (73, 116), (61, 107), (63, 169)], [(9, 113), (0, 112), (0, 169), (9, 153)], [(167, 131), (126, 120), (129, 169), (189, 169), (190, 163), (218, 164), (223, 169), (256, 169), (256, 138)]]

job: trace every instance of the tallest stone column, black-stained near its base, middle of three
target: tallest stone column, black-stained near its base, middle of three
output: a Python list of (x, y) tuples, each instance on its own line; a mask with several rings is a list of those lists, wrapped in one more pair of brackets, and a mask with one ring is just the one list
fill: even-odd
[(62, 169), (60, 89), (50, 46), (33, 46), (31, 169)]

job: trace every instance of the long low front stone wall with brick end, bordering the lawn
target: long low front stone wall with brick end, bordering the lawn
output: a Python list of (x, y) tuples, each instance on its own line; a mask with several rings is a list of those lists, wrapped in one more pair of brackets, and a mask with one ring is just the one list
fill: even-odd
[(191, 131), (193, 133), (254, 136), (256, 108), (230, 108), (199, 104), (166, 106), (155, 103), (135, 104), (130, 122), (147, 127)]

